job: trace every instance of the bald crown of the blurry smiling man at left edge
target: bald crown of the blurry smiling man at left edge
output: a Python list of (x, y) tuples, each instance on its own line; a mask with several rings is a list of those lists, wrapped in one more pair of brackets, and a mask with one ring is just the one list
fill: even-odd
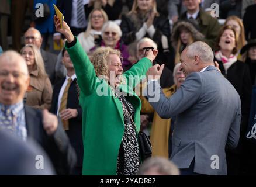
[(17, 69), (24, 73), (29, 74), (29, 71), (27, 70), (27, 63), (25, 59), (16, 51), (5, 51), (0, 56), (0, 70), (2, 67), (10, 66), (10, 67), (17, 67)]

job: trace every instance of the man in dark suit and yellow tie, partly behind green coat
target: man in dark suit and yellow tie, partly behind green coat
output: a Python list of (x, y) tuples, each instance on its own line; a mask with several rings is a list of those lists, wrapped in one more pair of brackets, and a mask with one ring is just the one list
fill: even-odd
[[(73, 63), (65, 49), (62, 51), (62, 56), (62, 62), (67, 69), (67, 76), (57, 82), (54, 86), (50, 112), (60, 116), (61, 120), (68, 121), (68, 127), (65, 132), (67, 133), (68, 138), (70, 138), (70, 142), (77, 153), (77, 164), (71, 174), (82, 175), (82, 157), (84, 148), (82, 146), (82, 108), (79, 105), (79, 88)], [(68, 85), (68, 79), (70, 78), (72, 81), (71, 84)], [(65, 89), (67, 86), (69, 87), (66, 90), (66, 95)], [(67, 96), (67, 101), (62, 110), (64, 95)]]

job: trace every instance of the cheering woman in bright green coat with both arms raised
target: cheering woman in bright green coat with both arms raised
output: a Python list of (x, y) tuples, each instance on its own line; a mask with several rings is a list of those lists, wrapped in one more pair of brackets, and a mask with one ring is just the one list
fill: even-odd
[(54, 22), (57, 32), (67, 39), (65, 48), (81, 90), (83, 175), (135, 175), (140, 166), (137, 133), (141, 102), (133, 88), (146, 75), (158, 51), (149, 50), (123, 74), (120, 51), (100, 47), (90, 61), (67, 23), (61, 28), (57, 16)]

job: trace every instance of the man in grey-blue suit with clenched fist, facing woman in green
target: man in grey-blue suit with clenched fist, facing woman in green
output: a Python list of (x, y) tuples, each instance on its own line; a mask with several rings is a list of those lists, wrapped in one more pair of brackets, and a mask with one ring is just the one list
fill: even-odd
[(184, 175), (226, 175), (225, 147), (238, 144), (240, 97), (213, 65), (213, 52), (206, 43), (198, 41), (186, 47), (179, 68), (186, 80), (171, 98), (165, 97), (155, 81), (163, 66), (155, 65), (147, 72), (151, 75), (148, 88), (160, 93), (159, 101), (154, 102), (148, 89), (151, 105), (164, 119), (177, 117), (171, 160)]

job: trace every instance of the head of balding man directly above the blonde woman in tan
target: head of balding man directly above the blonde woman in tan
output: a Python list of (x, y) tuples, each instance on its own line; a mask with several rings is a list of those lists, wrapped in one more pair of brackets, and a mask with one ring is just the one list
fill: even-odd
[(24, 34), (24, 43), (25, 44), (34, 44), (40, 49), (41, 44), (43, 43), (43, 38), (39, 30), (30, 27)]

